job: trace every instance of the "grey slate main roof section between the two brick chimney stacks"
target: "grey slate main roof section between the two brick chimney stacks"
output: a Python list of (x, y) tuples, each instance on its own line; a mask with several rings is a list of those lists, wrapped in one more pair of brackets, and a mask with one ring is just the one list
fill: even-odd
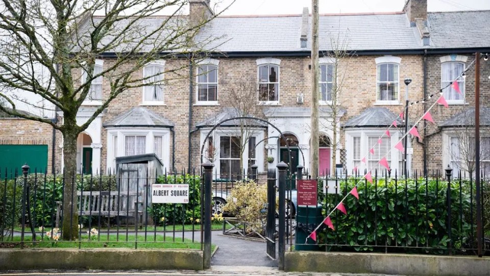
[[(311, 28), (307, 48), (301, 48), (301, 23), (301, 15), (217, 17), (201, 36), (219, 37), (209, 46), (223, 52), (310, 51)], [(318, 26), (320, 51), (332, 49), (332, 35), (348, 35), (350, 50), (418, 49), (422, 42), (415, 31), (404, 13), (323, 15)]]

